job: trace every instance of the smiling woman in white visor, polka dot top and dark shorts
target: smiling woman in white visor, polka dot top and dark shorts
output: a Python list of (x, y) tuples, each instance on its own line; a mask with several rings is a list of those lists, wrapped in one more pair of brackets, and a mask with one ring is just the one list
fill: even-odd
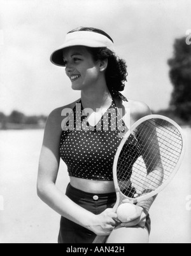
[[(96, 235), (108, 236), (107, 243), (147, 243), (153, 199), (137, 204), (125, 224), (112, 210), (117, 146), (134, 122), (151, 113), (146, 104), (120, 94), (125, 61), (115, 55), (108, 34), (88, 27), (68, 32), (50, 60), (65, 67), (73, 90), (81, 90), (78, 101), (50, 113), (39, 159), (38, 196), (62, 216), (59, 243), (92, 243)], [(70, 177), (66, 195), (55, 187), (60, 158)]]

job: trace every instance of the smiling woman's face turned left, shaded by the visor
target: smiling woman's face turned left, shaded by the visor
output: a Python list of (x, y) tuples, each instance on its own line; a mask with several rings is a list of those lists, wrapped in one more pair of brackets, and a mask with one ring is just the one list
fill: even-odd
[(95, 62), (85, 46), (72, 46), (63, 50), (66, 75), (72, 89), (85, 90), (96, 88), (99, 81), (99, 61)]

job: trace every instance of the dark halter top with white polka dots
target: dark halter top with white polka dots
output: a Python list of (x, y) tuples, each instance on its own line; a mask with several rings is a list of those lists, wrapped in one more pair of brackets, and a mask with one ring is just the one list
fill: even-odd
[[(76, 124), (75, 106), (72, 115), (69, 115), (73, 119), (73, 129), (64, 129), (61, 134), (60, 157), (67, 165), (69, 176), (112, 181), (113, 160), (122, 139), (119, 134), (125, 131), (124, 121), (122, 117), (118, 117), (114, 101), (95, 126), (89, 125), (87, 116), (82, 114), (81, 101), (80, 106), (80, 129)], [(68, 124), (69, 120), (66, 122), (67, 126)], [(120, 125), (113, 127), (113, 124)]]

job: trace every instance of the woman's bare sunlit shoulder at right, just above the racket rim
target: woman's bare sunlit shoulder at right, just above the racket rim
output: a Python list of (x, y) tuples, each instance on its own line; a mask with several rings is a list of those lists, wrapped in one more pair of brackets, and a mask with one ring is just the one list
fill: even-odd
[(142, 101), (134, 101), (132, 99), (128, 99), (128, 101), (131, 116), (135, 121), (152, 114), (149, 106)]

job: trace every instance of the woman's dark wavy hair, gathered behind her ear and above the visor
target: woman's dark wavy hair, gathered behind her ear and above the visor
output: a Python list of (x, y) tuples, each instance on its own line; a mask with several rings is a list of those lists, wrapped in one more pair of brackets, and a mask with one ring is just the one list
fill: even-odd
[[(107, 36), (112, 42), (113, 39), (101, 29), (94, 27), (78, 27), (69, 31), (67, 34), (76, 31), (91, 31)], [(114, 52), (106, 47), (92, 48), (87, 47), (88, 51), (92, 54), (94, 61), (108, 59), (108, 67), (106, 68), (106, 84), (110, 92), (119, 92), (124, 90), (125, 82), (127, 81), (127, 65), (124, 59), (120, 59)], [(112, 93), (113, 94), (113, 93)]]

